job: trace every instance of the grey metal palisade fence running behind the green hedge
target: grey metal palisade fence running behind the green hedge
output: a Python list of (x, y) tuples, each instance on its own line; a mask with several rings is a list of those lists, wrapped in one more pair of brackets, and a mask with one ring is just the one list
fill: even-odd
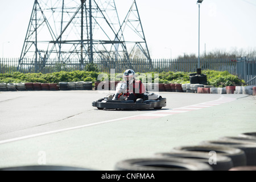
[[(127, 60), (106, 60), (96, 59), (93, 61), (99, 71), (110, 73), (110, 69), (115, 69), (115, 73), (123, 73), (126, 69), (134, 69), (135, 72), (196, 72), (197, 59), (153, 59), (151, 62), (143, 59)], [(83, 63), (79, 59), (46, 61), (33, 61), (24, 59), (19, 62), (18, 58), (0, 58), (0, 73), (52, 73), (60, 71), (82, 71), (86, 70), (89, 60)], [(256, 59), (201, 59), (202, 70), (228, 71), (245, 80), (247, 84), (256, 84)]]

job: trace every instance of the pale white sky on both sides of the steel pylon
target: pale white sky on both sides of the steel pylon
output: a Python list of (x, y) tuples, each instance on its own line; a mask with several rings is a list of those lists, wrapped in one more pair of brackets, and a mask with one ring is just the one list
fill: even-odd
[[(80, 0), (77, 0), (80, 1)], [(119, 18), (132, 0), (115, 0)], [(197, 0), (137, 0), (152, 58), (198, 54)], [(34, 0), (0, 0), (0, 57), (19, 57)], [(204, 0), (200, 6), (200, 53), (256, 48), (256, 0)]]

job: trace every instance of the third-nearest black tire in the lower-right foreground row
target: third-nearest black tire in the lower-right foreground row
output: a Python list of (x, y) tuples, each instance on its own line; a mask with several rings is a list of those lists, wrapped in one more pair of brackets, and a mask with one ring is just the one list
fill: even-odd
[(240, 148), (224, 147), (224, 146), (210, 146), (210, 145), (196, 145), (196, 146), (180, 146), (175, 147), (173, 152), (206, 152), (215, 151), (217, 155), (228, 156), (232, 159), (233, 166), (246, 166), (245, 152)]

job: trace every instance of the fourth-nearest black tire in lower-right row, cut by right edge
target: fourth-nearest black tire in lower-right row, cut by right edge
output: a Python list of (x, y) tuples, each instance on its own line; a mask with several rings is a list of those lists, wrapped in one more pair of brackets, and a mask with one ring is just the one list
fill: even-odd
[(253, 142), (238, 142), (238, 141), (222, 141), (222, 140), (211, 140), (203, 141), (202, 144), (213, 145), (213, 146), (226, 146), (233, 148), (240, 148), (245, 152), (246, 165), (256, 166), (256, 144)]

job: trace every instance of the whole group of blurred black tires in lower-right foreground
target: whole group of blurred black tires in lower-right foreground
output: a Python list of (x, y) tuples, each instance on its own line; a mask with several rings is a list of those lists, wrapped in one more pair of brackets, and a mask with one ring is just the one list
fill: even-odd
[(192, 146), (177, 146), (151, 158), (121, 160), (120, 171), (255, 171), (256, 132), (221, 137)]

